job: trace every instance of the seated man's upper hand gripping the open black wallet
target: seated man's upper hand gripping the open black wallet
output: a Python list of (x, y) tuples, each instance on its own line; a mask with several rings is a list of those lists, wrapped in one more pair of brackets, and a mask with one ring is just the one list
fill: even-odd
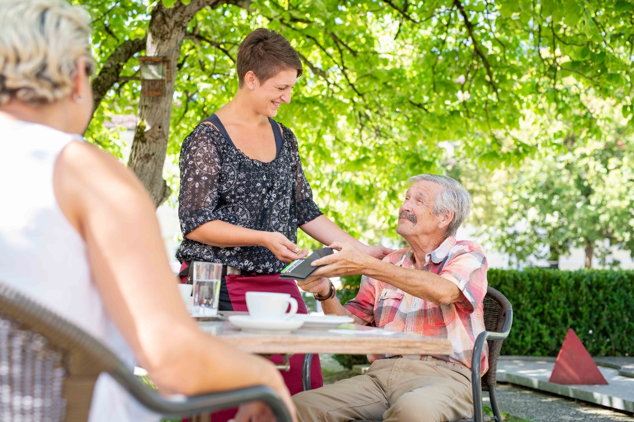
[(328, 247), (339, 252), (314, 260), (311, 263), (313, 267), (324, 266), (313, 272), (313, 276), (357, 276), (364, 274), (365, 270), (375, 261), (370, 255), (359, 251), (350, 243), (335, 242)]

